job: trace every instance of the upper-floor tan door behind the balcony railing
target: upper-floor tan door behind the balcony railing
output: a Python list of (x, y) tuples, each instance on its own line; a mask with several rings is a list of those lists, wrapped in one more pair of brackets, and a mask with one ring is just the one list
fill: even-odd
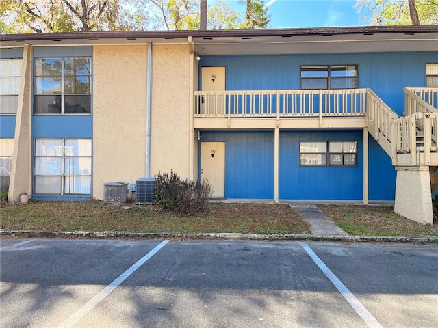
[[(202, 67), (201, 68), (201, 89), (202, 91), (224, 91), (225, 90), (225, 67)], [(207, 95), (203, 97), (201, 111), (203, 114), (216, 114), (224, 112), (222, 104), (224, 99), (218, 95)]]

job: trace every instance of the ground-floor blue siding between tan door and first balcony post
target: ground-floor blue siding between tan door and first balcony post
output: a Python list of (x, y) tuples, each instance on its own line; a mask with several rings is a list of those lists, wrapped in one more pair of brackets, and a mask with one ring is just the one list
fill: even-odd
[(274, 131), (201, 131), (225, 142), (225, 197), (274, 198)]

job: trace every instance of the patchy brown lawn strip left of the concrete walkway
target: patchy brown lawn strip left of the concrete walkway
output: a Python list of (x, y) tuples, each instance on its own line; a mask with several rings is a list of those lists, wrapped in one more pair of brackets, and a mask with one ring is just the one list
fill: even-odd
[(209, 213), (175, 215), (157, 205), (101, 201), (37, 202), (0, 207), (0, 227), (42, 231), (311, 234), (288, 204), (212, 203)]

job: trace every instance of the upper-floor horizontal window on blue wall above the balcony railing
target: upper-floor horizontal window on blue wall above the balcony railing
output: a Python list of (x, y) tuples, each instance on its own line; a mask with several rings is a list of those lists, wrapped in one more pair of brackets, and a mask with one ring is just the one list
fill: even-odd
[(301, 89), (356, 89), (357, 65), (301, 66)]

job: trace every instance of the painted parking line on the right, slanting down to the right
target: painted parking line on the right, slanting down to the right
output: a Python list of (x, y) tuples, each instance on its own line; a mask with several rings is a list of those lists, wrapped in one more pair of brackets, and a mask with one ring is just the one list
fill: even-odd
[(344, 298), (350, 303), (353, 309), (361, 316), (362, 320), (365, 321), (365, 323), (368, 325), (368, 327), (372, 328), (383, 328), (380, 323), (372, 316), (372, 314), (365, 308), (365, 306), (362, 305), (362, 303), (355, 297), (355, 295), (348, 290), (348, 288), (341, 282), (341, 280), (336, 277), (336, 275), (331, 272), (329, 267), (322, 262), (320, 258), (318, 258), (318, 255), (315, 254), (315, 252), (306, 244), (306, 243), (300, 243), (302, 248), (309, 254), (309, 256), (312, 258), (313, 262), (320, 267), (321, 271), (324, 272), (324, 275), (326, 275), (333, 285), (339, 290), (339, 292), (344, 296)]

